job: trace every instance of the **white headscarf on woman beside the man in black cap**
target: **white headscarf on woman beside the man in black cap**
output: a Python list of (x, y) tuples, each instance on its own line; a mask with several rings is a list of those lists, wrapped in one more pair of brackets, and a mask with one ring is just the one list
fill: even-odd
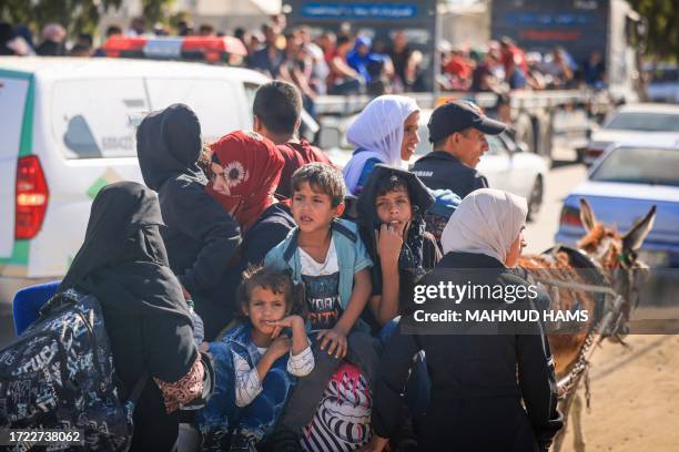
[(363, 166), (369, 158), (401, 167), (403, 123), (416, 111), (419, 111), (419, 107), (414, 99), (405, 95), (381, 95), (367, 104), (349, 125), (346, 138), (354, 147), (363, 150), (354, 154), (344, 167), (344, 181), (349, 192), (354, 193)]

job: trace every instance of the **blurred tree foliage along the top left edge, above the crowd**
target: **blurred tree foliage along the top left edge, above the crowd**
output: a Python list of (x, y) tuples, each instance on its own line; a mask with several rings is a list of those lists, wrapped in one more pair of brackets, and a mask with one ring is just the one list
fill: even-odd
[[(142, 17), (148, 24), (164, 20), (173, 0), (142, 0)], [(44, 24), (58, 22), (69, 34), (95, 34), (101, 16), (116, 10), (123, 0), (0, 0), (0, 21), (26, 24), (38, 32)]]

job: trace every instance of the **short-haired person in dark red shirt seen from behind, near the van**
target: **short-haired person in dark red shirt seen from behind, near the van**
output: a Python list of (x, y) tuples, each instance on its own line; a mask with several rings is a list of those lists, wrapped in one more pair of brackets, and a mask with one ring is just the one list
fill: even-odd
[(318, 147), (295, 137), (302, 123), (302, 95), (295, 85), (275, 80), (260, 86), (252, 110), (254, 131), (274, 142), (285, 160), (276, 196), (290, 197), (290, 181), (298, 167), (312, 162), (332, 164)]

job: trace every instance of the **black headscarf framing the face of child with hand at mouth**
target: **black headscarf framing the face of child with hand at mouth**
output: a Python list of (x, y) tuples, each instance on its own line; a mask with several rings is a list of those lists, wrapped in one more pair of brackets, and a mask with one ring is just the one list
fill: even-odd
[(379, 257), (377, 256), (375, 230), (379, 230), (382, 222), (377, 216), (375, 198), (377, 197), (377, 187), (379, 184), (385, 178), (393, 176), (397, 176), (401, 181), (405, 181), (411, 197), (411, 205), (413, 206), (413, 219), (411, 220), (411, 228), (408, 229), (407, 237), (401, 247), (398, 268), (422, 268), (425, 233), (423, 215), (434, 203), (434, 197), (429, 194), (427, 187), (413, 173), (383, 164), (375, 165), (358, 196), (357, 210), (358, 223), (361, 225), (361, 238), (371, 258), (375, 263), (373, 275), (377, 278), (382, 278), (382, 270)]

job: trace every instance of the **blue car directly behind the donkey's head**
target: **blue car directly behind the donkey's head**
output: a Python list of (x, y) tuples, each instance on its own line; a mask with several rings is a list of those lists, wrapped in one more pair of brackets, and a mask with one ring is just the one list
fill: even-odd
[(589, 202), (597, 219), (621, 234), (656, 205), (639, 258), (651, 267), (679, 268), (679, 143), (646, 141), (607, 150), (564, 201), (557, 244), (575, 246), (585, 234), (580, 198)]

